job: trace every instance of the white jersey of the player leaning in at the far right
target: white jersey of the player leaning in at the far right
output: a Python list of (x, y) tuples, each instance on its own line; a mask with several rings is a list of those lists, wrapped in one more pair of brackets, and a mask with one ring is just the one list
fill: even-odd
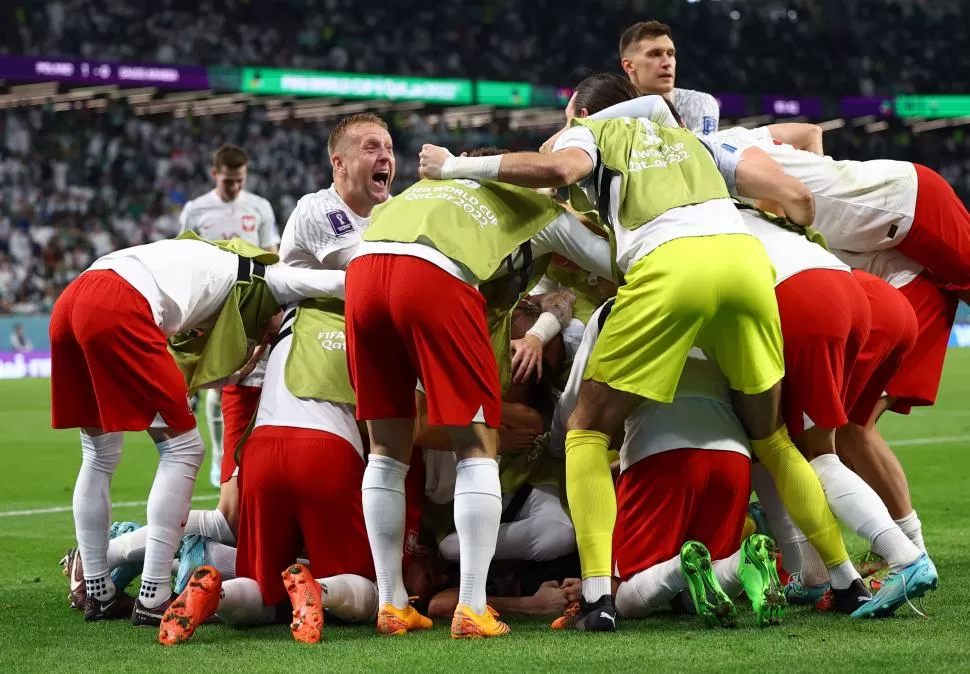
[(759, 147), (815, 195), (814, 227), (832, 248), (866, 252), (894, 248), (916, 213), (916, 169), (909, 162), (835, 161), (771, 138), (767, 127), (719, 131), (722, 149)]

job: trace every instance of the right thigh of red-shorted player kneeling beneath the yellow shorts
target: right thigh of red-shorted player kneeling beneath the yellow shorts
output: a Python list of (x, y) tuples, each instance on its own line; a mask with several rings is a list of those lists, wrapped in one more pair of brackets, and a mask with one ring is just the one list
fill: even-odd
[(692, 451), (690, 470), (703, 474), (706, 485), (698, 494), (687, 536), (707, 546), (712, 559), (724, 559), (741, 542), (751, 496), (751, 461), (737, 452)]

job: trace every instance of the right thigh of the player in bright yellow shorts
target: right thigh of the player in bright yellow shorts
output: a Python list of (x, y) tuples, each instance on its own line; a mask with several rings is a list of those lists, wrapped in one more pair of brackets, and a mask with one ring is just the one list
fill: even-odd
[(698, 342), (745, 395), (770, 390), (785, 373), (775, 273), (761, 242), (753, 236), (716, 237), (717, 256), (703, 258), (717, 273), (718, 306)]

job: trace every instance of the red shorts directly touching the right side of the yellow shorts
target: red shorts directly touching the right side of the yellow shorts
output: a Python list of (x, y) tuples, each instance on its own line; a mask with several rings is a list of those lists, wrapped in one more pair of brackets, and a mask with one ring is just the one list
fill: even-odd
[(869, 335), (865, 292), (851, 274), (809, 269), (775, 288), (785, 340), (782, 409), (792, 436), (808, 416), (819, 428), (839, 428), (845, 411), (846, 365)]

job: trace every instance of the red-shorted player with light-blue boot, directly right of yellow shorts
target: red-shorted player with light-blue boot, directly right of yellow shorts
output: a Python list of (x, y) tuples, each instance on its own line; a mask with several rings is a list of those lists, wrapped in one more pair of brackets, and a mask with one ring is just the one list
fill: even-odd
[[(877, 331), (873, 343), (869, 342), (872, 314), (880, 312), (879, 303), (873, 303), (870, 309), (870, 297), (877, 297), (880, 289), (872, 287), (867, 292), (848, 265), (790, 231), (784, 221), (772, 222), (749, 209), (742, 210), (741, 215), (764, 244), (775, 268), (775, 294), (785, 342), (786, 426), (818, 475), (832, 512), (869, 541), (890, 570), (899, 572), (905, 586), (901, 588), (904, 592), (885, 587), (870, 602), (869, 592), (851, 562), (845, 561), (826, 573), (818, 554), (803, 542), (799, 551), (801, 573), (786, 588), (786, 595), (794, 603), (815, 603), (829, 589), (830, 579), (831, 604), (837, 610), (854, 617), (891, 614), (906, 596), (919, 597), (934, 588), (936, 572), (893, 521), (876, 492), (839, 459), (836, 443), (837, 429), (849, 423), (848, 413), (868, 419), (874, 404), (871, 398), (862, 403), (858, 398), (872, 386), (871, 379), (882, 365), (882, 359), (872, 353), (876, 348), (873, 343), (884, 343), (880, 333)], [(879, 279), (865, 280), (873, 285), (880, 283)], [(888, 286), (884, 290), (892, 292)], [(857, 367), (860, 371), (853, 379), (851, 371)], [(869, 410), (856, 411), (860, 404), (868, 404)], [(770, 517), (769, 501), (763, 501), (763, 505)], [(774, 502), (771, 505), (777, 507)], [(783, 550), (785, 543), (790, 541), (782, 541)]]

